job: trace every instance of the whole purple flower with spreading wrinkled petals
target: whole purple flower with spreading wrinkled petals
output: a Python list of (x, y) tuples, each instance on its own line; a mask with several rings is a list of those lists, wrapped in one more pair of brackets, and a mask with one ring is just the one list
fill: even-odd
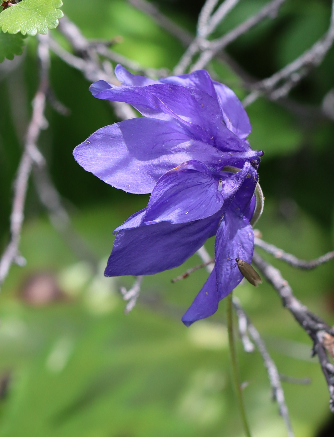
[(93, 96), (130, 103), (144, 117), (105, 126), (74, 149), (85, 170), (136, 194), (147, 208), (115, 229), (105, 276), (155, 274), (182, 264), (216, 235), (215, 268), (182, 320), (211, 316), (250, 263), (257, 166), (241, 102), (205, 70), (155, 81), (115, 69), (122, 83), (91, 85)]

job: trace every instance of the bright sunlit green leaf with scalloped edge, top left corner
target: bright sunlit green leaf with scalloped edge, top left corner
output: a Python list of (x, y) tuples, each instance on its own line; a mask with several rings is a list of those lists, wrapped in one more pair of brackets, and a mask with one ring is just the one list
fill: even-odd
[(22, 35), (45, 35), (48, 29), (58, 26), (58, 18), (63, 12), (61, 0), (22, 0), (14, 6), (8, 7), (0, 14), (0, 28), (3, 32)]

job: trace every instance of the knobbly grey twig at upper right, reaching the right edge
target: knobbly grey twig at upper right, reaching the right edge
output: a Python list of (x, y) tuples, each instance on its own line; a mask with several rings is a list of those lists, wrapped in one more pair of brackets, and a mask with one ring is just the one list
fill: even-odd
[[(274, 73), (267, 79), (260, 80), (253, 85), (253, 91), (243, 101), (244, 106), (248, 106), (262, 94), (267, 94), (271, 100), (285, 97), (303, 77), (309, 73), (310, 69), (320, 65), (328, 50), (334, 42), (334, 0), (332, 1), (332, 12), (330, 25), (326, 34), (320, 38), (313, 46), (306, 50), (297, 59)], [(281, 83), (281, 86), (276, 86)]]

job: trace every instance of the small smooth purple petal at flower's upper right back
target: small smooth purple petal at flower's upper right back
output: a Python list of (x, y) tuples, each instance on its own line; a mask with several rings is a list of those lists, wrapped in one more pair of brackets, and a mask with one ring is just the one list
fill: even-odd
[(252, 127), (250, 119), (236, 94), (223, 83), (213, 81), (226, 126), (239, 138), (246, 138)]

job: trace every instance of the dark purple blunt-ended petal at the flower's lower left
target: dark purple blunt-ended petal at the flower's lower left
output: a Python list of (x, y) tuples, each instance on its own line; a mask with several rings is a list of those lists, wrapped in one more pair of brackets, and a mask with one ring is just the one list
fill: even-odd
[(221, 213), (181, 225), (160, 222), (118, 231), (105, 276), (146, 275), (178, 267), (218, 228)]

